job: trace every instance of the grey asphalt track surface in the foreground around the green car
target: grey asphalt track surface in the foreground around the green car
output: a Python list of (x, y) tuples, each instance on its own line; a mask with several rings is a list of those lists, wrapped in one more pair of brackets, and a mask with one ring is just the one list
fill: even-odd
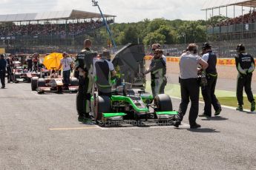
[(255, 113), (223, 109), (195, 130), (188, 112), (180, 129), (102, 129), (77, 121), (75, 98), (0, 89), (0, 169), (256, 169)]

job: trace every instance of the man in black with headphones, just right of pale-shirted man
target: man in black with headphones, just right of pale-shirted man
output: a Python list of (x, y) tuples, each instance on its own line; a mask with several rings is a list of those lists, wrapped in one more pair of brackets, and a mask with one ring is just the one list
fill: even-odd
[(221, 106), (220, 102), (217, 100), (215, 92), (215, 86), (217, 83), (217, 56), (212, 52), (211, 45), (209, 43), (204, 43), (203, 47), (203, 60), (209, 64), (206, 69), (207, 85), (202, 86), (203, 101), (205, 101), (204, 112), (201, 116), (211, 117), (211, 105), (214, 107), (215, 114), (220, 115)]

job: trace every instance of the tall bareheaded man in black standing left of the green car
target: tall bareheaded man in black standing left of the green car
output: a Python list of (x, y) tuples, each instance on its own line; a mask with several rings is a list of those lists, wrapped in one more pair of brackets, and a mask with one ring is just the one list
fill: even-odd
[(79, 89), (76, 95), (76, 111), (78, 120), (87, 120), (91, 112), (91, 92), (93, 86), (93, 61), (96, 52), (91, 50), (91, 40), (84, 41), (84, 49), (79, 52), (76, 59), (75, 70), (79, 71)]

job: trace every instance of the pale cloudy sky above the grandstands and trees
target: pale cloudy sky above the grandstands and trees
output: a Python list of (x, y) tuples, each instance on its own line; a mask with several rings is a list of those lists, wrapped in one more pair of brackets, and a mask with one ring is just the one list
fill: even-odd
[[(197, 20), (205, 19), (201, 11), (206, 0), (98, 0), (102, 12), (117, 16), (116, 22), (142, 21), (144, 18)], [(13, 13), (38, 13), (56, 10), (85, 10), (99, 13), (91, 0), (1, 0), (0, 15)], [(223, 12), (225, 9), (223, 10)], [(231, 9), (231, 11), (233, 11)], [(218, 13), (218, 10), (217, 10)], [(237, 12), (238, 13), (238, 12)], [(237, 15), (236, 13), (236, 15)], [(244, 12), (245, 13), (245, 12)], [(211, 15), (209, 12), (208, 15)], [(216, 12), (214, 15), (217, 15)], [(226, 14), (223, 14), (226, 16)], [(230, 14), (232, 15), (232, 14)]]

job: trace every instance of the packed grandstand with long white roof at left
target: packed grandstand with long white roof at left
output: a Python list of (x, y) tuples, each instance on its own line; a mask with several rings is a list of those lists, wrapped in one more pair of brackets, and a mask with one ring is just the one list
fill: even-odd
[[(113, 24), (116, 16), (104, 17)], [(100, 39), (103, 26), (99, 13), (81, 10), (0, 15), (0, 48), (12, 53), (77, 52), (85, 37)]]

